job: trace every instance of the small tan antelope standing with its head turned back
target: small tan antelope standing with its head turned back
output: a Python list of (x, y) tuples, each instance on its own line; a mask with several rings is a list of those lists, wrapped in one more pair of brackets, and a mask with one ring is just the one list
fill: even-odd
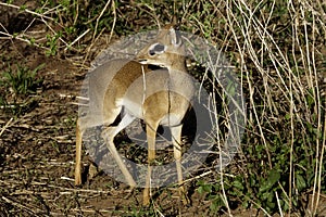
[[(160, 66), (151, 71), (150, 66)], [(150, 180), (155, 158), (155, 137), (159, 125), (172, 132), (179, 191), (184, 204), (188, 203), (183, 187), (181, 120), (190, 106), (195, 88), (186, 69), (185, 47), (174, 25), (161, 29), (150, 44), (135, 60), (112, 60), (97, 67), (89, 75), (89, 114), (79, 117), (76, 127), (75, 184), (82, 184), (82, 138), (89, 127), (105, 126), (102, 137), (114, 156), (127, 183), (137, 183), (122, 161), (114, 137), (135, 118), (146, 124), (148, 141), (148, 174), (143, 190), (143, 205), (150, 203)], [(102, 117), (93, 118), (101, 114)], [(122, 114), (117, 126), (110, 126)]]

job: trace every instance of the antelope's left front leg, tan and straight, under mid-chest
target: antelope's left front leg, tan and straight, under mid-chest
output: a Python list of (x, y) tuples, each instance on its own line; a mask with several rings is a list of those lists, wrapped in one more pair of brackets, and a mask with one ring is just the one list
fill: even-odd
[(152, 176), (152, 164), (155, 161), (155, 137), (158, 124), (146, 125), (147, 143), (148, 143), (148, 171), (146, 177), (146, 186), (143, 189), (143, 201), (145, 206), (150, 203), (150, 188), (151, 188), (151, 176)]

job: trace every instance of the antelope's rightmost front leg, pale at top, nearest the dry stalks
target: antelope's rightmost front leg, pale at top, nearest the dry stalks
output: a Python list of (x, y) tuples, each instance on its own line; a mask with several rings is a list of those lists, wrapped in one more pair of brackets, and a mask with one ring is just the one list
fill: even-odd
[(177, 176), (178, 176), (178, 183), (179, 183), (179, 194), (181, 196), (183, 203), (185, 205), (189, 204), (190, 201), (186, 194), (185, 187), (183, 184), (183, 168), (181, 168), (181, 131), (183, 131), (183, 125), (178, 125), (176, 127), (171, 128), (172, 133), (172, 142), (173, 142), (173, 151), (174, 151), (174, 158), (177, 169)]

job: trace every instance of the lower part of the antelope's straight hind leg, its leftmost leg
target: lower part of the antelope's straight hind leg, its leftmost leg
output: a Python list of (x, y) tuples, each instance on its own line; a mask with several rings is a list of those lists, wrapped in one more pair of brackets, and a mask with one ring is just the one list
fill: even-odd
[(82, 138), (83, 138), (83, 131), (79, 128), (79, 119), (78, 119), (76, 125), (75, 186), (82, 184)]

